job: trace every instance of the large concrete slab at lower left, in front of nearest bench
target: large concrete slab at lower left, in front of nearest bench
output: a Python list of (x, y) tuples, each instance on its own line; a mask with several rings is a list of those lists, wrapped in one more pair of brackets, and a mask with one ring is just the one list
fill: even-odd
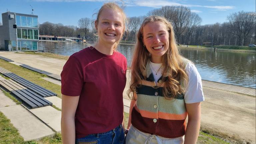
[(54, 131), (21, 105), (1, 107), (0, 111), (11, 120), (11, 123), (19, 131), (25, 141), (41, 139), (42, 137), (55, 134)]

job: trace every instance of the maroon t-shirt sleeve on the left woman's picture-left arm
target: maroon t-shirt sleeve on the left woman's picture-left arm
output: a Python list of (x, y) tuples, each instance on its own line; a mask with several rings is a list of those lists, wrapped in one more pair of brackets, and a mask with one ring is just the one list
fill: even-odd
[(61, 93), (67, 96), (79, 96), (82, 87), (82, 66), (74, 56), (70, 56), (61, 72)]

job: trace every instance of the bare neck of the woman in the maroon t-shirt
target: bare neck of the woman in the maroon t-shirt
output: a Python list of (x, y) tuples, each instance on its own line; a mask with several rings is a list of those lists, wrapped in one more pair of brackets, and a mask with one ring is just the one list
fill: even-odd
[(114, 44), (102, 44), (100, 40), (94, 45), (94, 48), (105, 55), (112, 55)]

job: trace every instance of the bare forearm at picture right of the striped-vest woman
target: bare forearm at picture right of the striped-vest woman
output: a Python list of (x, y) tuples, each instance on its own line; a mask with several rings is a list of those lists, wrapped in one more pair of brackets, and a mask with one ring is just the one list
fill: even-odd
[(188, 120), (184, 144), (196, 144), (200, 130), (200, 119)]

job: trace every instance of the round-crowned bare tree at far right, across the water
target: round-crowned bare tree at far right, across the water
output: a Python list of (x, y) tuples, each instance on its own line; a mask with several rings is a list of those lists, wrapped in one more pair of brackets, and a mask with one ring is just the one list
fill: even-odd
[(243, 39), (247, 38), (250, 31), (255, 27), (255, 12), (236, 12), (230, 14), (227, 19), (229, 21), (230, 29), (238, 38), (239, 44), (244, 45)]

